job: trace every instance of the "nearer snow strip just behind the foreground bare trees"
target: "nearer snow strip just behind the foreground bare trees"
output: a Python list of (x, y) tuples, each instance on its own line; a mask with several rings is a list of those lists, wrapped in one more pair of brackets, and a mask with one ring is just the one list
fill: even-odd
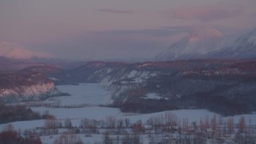
[[(114, 116), (118, 119), (129, 118), (130, 122), (138, 122), (138, 120), (142, 120), (142, 122), (146, 122), (149, 118), (164, 116), (166, 113), (171, 113), (177, 115), (178, 119), (182, 121), (183, 118), (188, 118), (189, 122), (199, 122), (208, 116), (209, 118), (213, 118), (213, 112), (209, 110), (167, 110), (158, 113), (151, 114), (128, 114), (122, 113), (120, 110), (116, 108), (108, 108), (108, 107), (97, 107), (90, 106), (84, 108), (72, 108), (72, 109), (64, 109), (64, 108), (46, 108), (46, 107), (32, 107), (32, 110), (38, 111), (39, 113), (44, 113), (46, 110), (49, 110), (49, 114), (53, 114), (58, 120), (64, 122), (66, 118), (70, 118), (73, 126), (80, 126), (80, 122), (84, 118), (95, 119), (95, 120), (106, 120), (109, 116)], [(218, 114), (215, 114), (219, 116)], [(238, 123), (239, 119), (242, 115), (234, 116), (234, 122)], [(249, 123), (249, 119), (251, 118), (251, 122), (253, 125), (256, 124), (256, 113), (255, 114), (243, 114), (246, 118), (247, 123)], [(229, 118), (229, 117), (226, 117)], [(45, 120), (34, 120), (34, 121), (24, 121), (24, 122), (11, 122), (14, 126), (15, 130), (26, 130), (32, 129), (35, 127), (42, 127), (45, 125)], [(0, 125), (0, 130), (5, 130), (7, 124)]]

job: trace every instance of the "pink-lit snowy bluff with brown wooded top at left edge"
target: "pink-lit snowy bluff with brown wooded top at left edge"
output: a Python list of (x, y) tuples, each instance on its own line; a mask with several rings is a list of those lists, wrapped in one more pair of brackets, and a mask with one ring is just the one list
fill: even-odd
[(42, 74), (0, 74), (0, 102), (40, 100), (58, 93)]

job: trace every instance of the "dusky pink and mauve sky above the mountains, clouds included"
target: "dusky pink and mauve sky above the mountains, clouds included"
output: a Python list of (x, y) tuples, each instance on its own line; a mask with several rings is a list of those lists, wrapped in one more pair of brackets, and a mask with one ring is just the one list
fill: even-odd
[(255, 6), (255, 0), (3, 0), (0, 42), (57, 58), (150, 58), (193, 26), (226, 36), (251, 30)]

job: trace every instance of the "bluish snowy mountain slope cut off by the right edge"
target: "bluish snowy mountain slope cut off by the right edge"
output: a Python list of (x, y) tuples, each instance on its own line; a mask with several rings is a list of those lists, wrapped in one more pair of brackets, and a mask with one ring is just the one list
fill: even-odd
[(206, 54), (206, 58), (256, 58), (256, 28), (242, 35), (231, 46)]

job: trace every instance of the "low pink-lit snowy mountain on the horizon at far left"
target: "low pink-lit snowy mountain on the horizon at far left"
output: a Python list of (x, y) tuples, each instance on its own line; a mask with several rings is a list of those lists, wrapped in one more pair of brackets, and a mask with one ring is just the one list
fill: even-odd
[(14, 42), (0, 42), (0, 56), (15, 59), (53, 58), (52, 54), (27, 50)]

